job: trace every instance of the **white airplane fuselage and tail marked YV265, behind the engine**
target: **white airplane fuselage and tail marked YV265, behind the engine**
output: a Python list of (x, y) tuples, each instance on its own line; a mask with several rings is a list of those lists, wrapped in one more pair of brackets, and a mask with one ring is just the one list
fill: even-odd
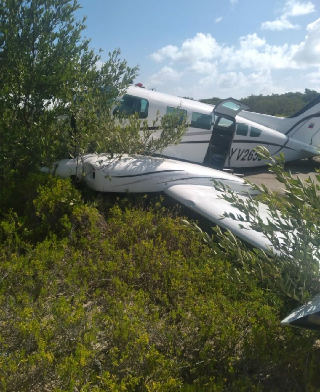
[[(319, 155), (320, 95), (287, 118), (247, 111), (249, 106), (228, 98), (215, 107), (186, 98), (129, 86), (115, 101), (113, 114), (139, 113), (150, 126), (160, 116), (179, 107), (187, 115), (188, 127), (178, 145), (166, 147), (161, 155), (216, 168), (265, 165), (254, 148), (265, 146), (271, 156), (282, 152), (285, 161)], [(159, 131), (161, 132), (161, 131)], [(155, 134), (155, 136), (157, 136)]]

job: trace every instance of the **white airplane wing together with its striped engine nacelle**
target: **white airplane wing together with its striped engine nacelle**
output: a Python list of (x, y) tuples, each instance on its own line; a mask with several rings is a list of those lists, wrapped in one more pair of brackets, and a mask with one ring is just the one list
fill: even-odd
[[(223, 191), (214, 188), (212, 180), (247, 200), (249, 196), (246, 195), (255, 191), (233, 174), (163, 158), (122, 156), (111, 159), (107, 155), (95, 154), (88, 154), (82, 159), (61, 160), (52, 169), (41, 170), (61, 177), (82, 177), (88, 187), (100, 192), (165, 192), (214, 224), (229, 229), (253, 247), (275, 254), (274, 247), (263, 233), (252, 229), (245, 214), (223, 199)], [(224, 213), (233, 214), (236, 219), (223, 218)], [(263, 203), (258, 204), (258, 215), (264, 223), (268, 223), (270, 213)]]

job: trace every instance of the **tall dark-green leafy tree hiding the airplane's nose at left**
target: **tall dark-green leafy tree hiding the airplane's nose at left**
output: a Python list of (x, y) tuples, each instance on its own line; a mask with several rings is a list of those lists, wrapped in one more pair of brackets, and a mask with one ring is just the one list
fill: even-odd
[[(137, 67), (128, 67), (115, 49), (97, 68), (100, 55), (81, 39), (79, 8), (70, 0), (0, 3), (0, 180), (11, 169), (24, 174), (87, 152), (161, 150), (185, 132), (178, 115), (159, 118), (149, 129), (137, 116), (124, 123), (112, 116)], [(152, 125), (163, 130), (157, 139)]]

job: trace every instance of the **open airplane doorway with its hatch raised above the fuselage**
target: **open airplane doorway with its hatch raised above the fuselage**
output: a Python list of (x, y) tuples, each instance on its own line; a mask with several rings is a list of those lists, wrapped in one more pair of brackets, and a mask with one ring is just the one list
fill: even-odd
[(233, 98), (227, 98), (214, 107), (214, 126), (208, 151), (209, 165), (229, 166), (227, 159), (236, 130), (236, 115), (250, 107)]

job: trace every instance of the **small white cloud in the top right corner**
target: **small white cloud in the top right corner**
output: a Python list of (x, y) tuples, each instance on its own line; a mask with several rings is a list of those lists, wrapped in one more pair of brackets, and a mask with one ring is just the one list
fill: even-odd
[(298, 24), (293, 24), (288, 18), (292, 16), (307, 15), (315, 11), (315, 5), (308, 2), (300, 2), (299, 0), (287, 0), (282, 9), (282, 15), (272, 21), (263, 22), (261, 29), (281, 31), (287, 29), (299, 29)]

